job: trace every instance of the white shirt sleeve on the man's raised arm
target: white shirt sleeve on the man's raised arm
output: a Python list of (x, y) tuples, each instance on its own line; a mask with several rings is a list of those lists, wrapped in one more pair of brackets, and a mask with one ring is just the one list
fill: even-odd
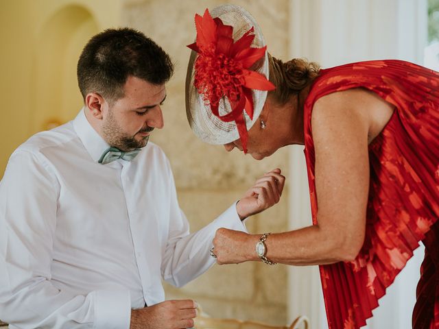
[(180, 210), (172, 173), (169, 173), (171, 200), (169, 236), (162, 259), (163, 279), (176, 287), (197, 278), (214, 265), (210, 255), (212, 241), (218, 228), (248, 232), (239, 219), (236, 202), (201, 230), (189, 234), (189, 223)]

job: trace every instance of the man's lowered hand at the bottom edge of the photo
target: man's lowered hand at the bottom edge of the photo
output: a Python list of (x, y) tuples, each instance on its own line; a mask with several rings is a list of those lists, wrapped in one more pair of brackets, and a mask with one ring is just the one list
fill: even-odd
[(130, 329), (192, 328), (197, 316), (193, 300), (167, 300), (159, 304), (131, 310)]

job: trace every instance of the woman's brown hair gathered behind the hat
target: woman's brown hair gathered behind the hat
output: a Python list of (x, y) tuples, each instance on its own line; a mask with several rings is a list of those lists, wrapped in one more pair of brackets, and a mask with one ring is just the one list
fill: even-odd
[(297, 95), (300, 90), (311, 84), (320, 72), (318, 63), (308, 62), (303, 58), (294, 58), (284, 63), (269, 53), (268, 62), (270, 81), (276, 86), (268, 95), (280, 105), (287, 103), (289, 97)]

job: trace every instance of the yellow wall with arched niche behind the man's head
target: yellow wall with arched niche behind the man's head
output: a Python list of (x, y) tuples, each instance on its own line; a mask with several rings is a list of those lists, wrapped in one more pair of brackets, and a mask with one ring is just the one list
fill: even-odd
[(121, 1), (0, 1), (0, 180), (16, 147), (78, 113), (80, 51), (93, 34), (119, 25)]

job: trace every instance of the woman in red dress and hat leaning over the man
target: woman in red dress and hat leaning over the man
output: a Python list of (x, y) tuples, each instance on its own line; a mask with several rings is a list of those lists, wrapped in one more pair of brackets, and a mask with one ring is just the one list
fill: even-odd
[(220, 229), (217, 263), (321, 265), (329, 328), (359, 328), (422, 241), (413, 327), (439, 327), (439, 73), (397, 60), (283, 63), (242, 8), (212, 16), (195, 16), (189, 123), (257, 160), (305, 145), (313, 218), (271, 235)]

